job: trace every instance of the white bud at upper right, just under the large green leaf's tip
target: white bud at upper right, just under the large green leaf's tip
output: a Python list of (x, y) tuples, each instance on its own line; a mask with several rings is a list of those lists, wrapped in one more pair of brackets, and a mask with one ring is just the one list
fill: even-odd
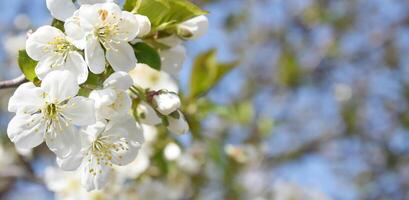
[(201, 15), (179, 24), (177, 34), (185, 39), (197, 39), (207, 32), (209, 20), (206, 16)]

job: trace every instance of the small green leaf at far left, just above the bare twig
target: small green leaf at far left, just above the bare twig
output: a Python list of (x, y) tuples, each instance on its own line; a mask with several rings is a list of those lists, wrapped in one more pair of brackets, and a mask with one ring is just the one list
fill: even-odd
[(31, 82), (38, 81), (37, 75), (34, 71), (37, 63), (37, 61), (31, 59), (30, 56), (27, 55), (26, 50), (20, 50), (18, 52), (18, 66), (26, 79)]

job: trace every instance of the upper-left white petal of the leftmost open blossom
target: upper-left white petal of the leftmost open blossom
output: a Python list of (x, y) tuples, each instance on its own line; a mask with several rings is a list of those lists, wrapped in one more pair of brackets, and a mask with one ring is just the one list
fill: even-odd
[(33, 113), (41, 109), (44, 104), (42, 98), (43, 91), (33, 83), (24, 83), (20, 85), (13, 96), (10, 97), (9, 112), (27, 112)]

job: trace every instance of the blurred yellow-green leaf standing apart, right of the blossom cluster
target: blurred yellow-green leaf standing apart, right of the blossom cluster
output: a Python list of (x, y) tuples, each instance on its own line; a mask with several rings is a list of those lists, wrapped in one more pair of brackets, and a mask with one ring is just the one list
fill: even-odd
[(238, 62), (218, 63), (216, 54), (216, 50), (212, 49), (196, 58), (190, 78), (191, 98), (205, 95), (238, 65)]

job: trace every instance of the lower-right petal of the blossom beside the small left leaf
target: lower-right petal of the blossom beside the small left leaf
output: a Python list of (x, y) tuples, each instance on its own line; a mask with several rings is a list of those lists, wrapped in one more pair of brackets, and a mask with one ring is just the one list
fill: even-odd
[(74, 74), (78, 79), (78, 84), (84, 83), (88, 79), (88, 66), (84, 58), (76, 51), (71, 51), (67, 57), (63, 69)]

